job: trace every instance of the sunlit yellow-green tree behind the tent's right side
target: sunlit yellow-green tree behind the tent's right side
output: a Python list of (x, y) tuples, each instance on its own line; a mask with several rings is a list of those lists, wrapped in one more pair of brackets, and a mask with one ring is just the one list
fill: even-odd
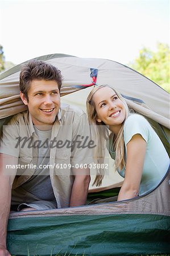
[(157, 51), (143, 47), (139, 51), (139, 56), (130, 67), (142, 73), (163, 89), (170, 92), (169, 87), (169, 46), (168, 44), (157, 43)]

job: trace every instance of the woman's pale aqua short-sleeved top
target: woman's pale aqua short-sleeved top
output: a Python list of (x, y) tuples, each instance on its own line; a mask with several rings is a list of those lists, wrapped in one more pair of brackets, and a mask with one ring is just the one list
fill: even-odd
[[(150, 123), (142, 115), (131, 114), (124, 125), (125, 158), (127, 158), (127, 143), (135, 134), (140, 134), (147, 143), (144, 159), (142, 179), (140, 182), (139, 196), (144, 195), (159, 185), (169, 167), (169, 156)], [(113, 141), (113, 137), (112, 137)], [(114, 158), (114, 152), (110, 155)], [(137, 170), (138, 171), (138, 170)], [(118, 173), (125, 177), (125, 168)]]

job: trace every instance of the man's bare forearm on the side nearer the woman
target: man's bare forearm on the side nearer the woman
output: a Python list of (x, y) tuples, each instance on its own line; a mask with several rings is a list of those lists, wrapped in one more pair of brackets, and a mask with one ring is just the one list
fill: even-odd
[(70, 200), (70, 207), (85, 205), (88, 196), (90, 183), (90, 169), (77, 168), (73, 169), (74, 183)]

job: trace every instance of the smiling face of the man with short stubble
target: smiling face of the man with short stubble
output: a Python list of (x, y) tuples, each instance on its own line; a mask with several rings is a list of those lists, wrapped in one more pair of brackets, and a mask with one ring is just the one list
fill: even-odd
[(56, 81), (32, 80), (28, 101), (23, 93), (20, 93), (20, 97), (28, 106), (35, 126), (53, 125), (60, 109), (60, 93)]

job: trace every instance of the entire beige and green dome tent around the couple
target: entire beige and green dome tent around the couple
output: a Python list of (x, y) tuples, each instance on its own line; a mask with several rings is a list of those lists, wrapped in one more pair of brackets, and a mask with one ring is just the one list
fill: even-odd
[[(63, 54), (37, 57), (61, 70), (61, 102), (85, 110), (94, 85), (109, 84), (135, 112), (155, 127), (169, 150), (169, 94), (153, 81), (120, 63)], [(26, 106), (19, 97), (20, 65), (0, 75), (0, 125)], [(88, 199), (117, 195), (122, 178), (113, 171), (102, 186), (90, 185)], [(170, 252), (170, 175), (147, 195), (135, 199), (56, 210), (11, 213), (7, 246), (15, 255), (139, 255)], [(93, 180), (93, 177), (92, 177)], [(101, 201), (102, 202), (102, 201)]]

